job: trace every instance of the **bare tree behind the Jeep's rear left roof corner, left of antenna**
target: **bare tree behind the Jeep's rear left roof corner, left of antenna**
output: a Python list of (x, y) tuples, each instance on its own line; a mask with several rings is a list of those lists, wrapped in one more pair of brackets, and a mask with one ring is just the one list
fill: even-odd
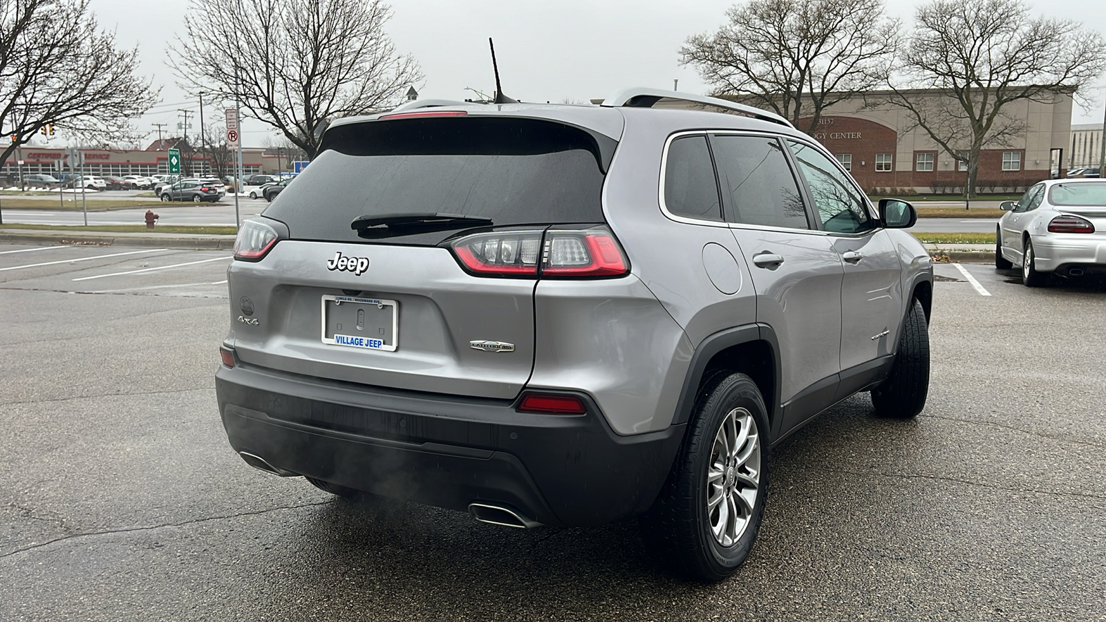
[(380, 0), (190, 0), (190, 10), (223, 19), (187, 22), (170, 46), (182, 83), (218, 84), (309, 157), (331, 120), (392, 107), (422, 79), (384, 32), (392, 11)]

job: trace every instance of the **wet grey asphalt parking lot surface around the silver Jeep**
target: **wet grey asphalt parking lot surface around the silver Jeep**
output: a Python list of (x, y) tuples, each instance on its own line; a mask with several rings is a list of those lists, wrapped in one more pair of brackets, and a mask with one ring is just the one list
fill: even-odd
[(939, 265), (929, 402), (771, 459), (730, 580), (633, 521), (512, 530), (248, 467), (228, 251), (0, 245), (0, 620), (1106, 620), (1106, 286)]

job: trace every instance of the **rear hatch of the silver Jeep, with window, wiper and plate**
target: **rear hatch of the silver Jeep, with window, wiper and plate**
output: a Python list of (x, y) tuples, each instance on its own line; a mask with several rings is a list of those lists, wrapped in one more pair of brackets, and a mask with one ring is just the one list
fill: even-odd
[[(260, 219), (282, 239), (229, 271), (242, 362), (518, 395), (533, 369), (538, 277), (528, 262), (550, 225), (603, 222), (604, 157), (615, 142), (554, 121), (441, 114), (327, 131)], [(483, 236), (478, 253), (498, 258), (487, 271), (462, 266), (450, 245), (472, 236)]]

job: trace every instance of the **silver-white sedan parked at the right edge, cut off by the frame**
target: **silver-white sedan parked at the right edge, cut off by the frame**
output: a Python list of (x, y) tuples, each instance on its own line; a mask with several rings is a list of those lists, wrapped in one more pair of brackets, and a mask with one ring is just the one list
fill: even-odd
[(1106, 182), (1046, 179), (999, 207), (995, 268), (1020, 266), (1027, 287), (1106, 273)]

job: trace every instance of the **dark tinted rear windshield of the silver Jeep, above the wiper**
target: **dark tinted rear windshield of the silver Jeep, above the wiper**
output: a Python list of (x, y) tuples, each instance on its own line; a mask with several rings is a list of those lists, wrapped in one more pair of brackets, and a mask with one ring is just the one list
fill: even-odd
[[(525, 118), (338, 126), (264, 215), (288, 225), (293, 239), (355, 242), (368, 240), (349, 224), (384, 214), (461, 214), (495, 227), (602, 222), (602, 154), (613, 145), (578, 127)], [(453, 234), (372, 241), (432, 245)]]

